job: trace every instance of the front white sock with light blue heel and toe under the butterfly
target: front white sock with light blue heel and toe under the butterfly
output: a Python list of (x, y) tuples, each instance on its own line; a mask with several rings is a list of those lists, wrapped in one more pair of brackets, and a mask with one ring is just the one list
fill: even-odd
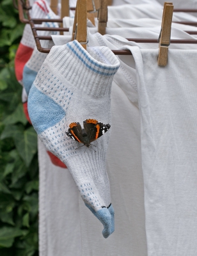
[(111, 83), (119, 65), (107, 47), (85, 51), (77, 41), (54, 46), (28, 99), (29, 116), (38, 136), (67, 165), (86, 206), (103, 223), (104, 237), (114, 230), (106, 172), (110, 129), (91, 143), (95, 147), (88, 148), (80, 147), (83, 144), (69, 138), (66, 132), (74, 122), (83, 127), (86, 119), (110, 124)]

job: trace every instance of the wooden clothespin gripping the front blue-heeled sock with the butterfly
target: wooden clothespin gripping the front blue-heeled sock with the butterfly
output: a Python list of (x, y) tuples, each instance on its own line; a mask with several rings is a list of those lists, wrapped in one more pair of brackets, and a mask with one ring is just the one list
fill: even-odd
[(72, 40), (76, 39), (86, 49), (86, 44), (88, 44), (87, 0), (77, 0), (72, 33)]

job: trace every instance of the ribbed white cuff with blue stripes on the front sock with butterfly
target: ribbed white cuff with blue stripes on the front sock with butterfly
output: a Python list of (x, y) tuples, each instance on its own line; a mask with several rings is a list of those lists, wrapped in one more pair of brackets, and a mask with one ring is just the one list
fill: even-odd
[(86, 51), (76, 40), (52, 47), (45, 65), (50, 63), (55, 74), (88, 95), (101, 97), (109, 93), (120, 62), (107, 47), (92, 47)]

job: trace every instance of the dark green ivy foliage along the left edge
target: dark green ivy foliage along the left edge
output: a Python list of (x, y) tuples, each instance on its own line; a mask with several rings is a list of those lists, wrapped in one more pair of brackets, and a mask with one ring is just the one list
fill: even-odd
[(12, 0), (0, 2), (0, 255), (38, 255), (36, 133), (22, 109), (14, 73), (24, 24)]

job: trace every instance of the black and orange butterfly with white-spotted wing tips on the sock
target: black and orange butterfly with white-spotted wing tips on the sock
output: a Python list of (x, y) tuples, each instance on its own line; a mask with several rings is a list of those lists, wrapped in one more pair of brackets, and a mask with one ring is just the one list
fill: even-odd
[(95, 119), (85, 120), (83, 126), (84, 129), (81, 128), (81, 124), (72, 123), (66, 134), (73, 140), (84, 143), (86, 147), (90, 147), (92, 141), (97, 140), (111, 127), (111, 125), (99, 123)]

